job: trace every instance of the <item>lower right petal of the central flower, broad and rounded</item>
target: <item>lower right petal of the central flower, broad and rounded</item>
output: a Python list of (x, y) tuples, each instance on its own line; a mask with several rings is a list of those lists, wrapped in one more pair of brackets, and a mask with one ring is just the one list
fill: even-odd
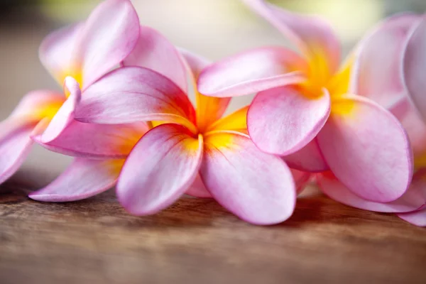
[(201, 178), (217, 202), (252, 224), (285, 221), (295, 207), (295, 183), (278, 157), (258, 151), (238, 132), (205, 137)]

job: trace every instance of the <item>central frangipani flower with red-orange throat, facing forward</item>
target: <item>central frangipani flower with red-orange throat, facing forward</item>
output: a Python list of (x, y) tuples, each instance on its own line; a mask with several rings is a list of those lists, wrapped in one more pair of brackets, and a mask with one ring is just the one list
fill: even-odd
[[(121, 204), (131, 214), (153, 214), (190, 189), (192, 195), (212, 195), (253, 224), (288, 219), (296, 198), (292, 174), (246, 135), (247, 107), (222, 117), (229, 99), (195, 89), (195, 110), (182, 89), (187, 77), (195, 87), (209, 62), (182, 50), (183, 60), (150, 28), (141, 28), (140, 43), (125, 67), (86, 89), (75, 113), (76, 119), (97, 124), (153, 121), (155, 127), (136, 143), (121, 170), (116, 185)], [(190, 188), (193, 182), (197, 187)]]

